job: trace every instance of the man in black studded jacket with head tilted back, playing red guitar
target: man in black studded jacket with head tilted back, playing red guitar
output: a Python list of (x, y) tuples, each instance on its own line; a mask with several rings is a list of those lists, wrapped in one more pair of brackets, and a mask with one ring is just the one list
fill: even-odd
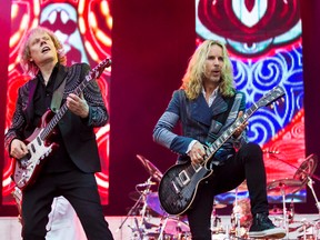
[[(42, 27), (27, 33), (20, 60), (22, 69), (32, 79), (18, 90), (4, 147), (21, 169), (28, 169), (30, 159), (37, 160), (39, 154), (36, 147), (56, 146), (52, 152), (46, 152), (44, 159), (39, 156), (36, 162), (41, 164), (41, 169), (36, 181), (22, 189), (22, 238), (44, 240), (52, 201), (63, 196), (76, 210), (88, 239), (112, 240), (94, 178), (94, 173), (101, 170), (94, 128), (104, 126), (109, 114), (94, 79), (80, 94), (74, 92), (87, 80), (90, 67), (87, 63), (66, 67), (62, 43), (52, 31)], [(43, 117), (48, 117), (48, 109), (53, 113), (64, 103), (68, 108), (66, 114), (54, 131), (48, 138), (43, 137), (43, 126), (49, 121)], [(37, 129), (41, 128), (43, 134), (37, 137)], [(28, 148), (29, 140), (36, 142), (31, 141), (33, 137), (37, 137), (39, 146)]]

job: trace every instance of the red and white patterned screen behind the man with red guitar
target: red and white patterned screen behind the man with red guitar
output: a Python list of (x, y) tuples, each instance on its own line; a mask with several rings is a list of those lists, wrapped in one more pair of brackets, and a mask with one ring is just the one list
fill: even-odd
[[(93, 68), (103, 59), (111, 57), (112, 44), (110, 0), (12, 0), (11, 3), (6, 130), (14, 110), (17, 90), (30, 79), (23, 76), (18, 59), (21, 39), (30, 28), (41, 24), (54, 31), (64, 44), (68, 64), (88, 62)], [(109, 113), (110, 72), (111, 68), (106, 69), (98, 80)], [(108, 204), (109, 201), (109, 124), (96, 132), (102, 162), (102, 172), (97, 173), (96, 178), (103, 204)], [(11, 161), (8, 152), (4, 152), (3, 206), (13, 204), (10, 193), (14, 187), (10, 179)]]

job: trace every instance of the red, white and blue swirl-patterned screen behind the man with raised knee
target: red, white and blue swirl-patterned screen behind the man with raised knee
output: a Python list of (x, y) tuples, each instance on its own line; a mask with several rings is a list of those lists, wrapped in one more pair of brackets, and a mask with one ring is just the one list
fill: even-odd
[[(292, 178), (306, 159), (299, 1), (196, 0), (196, 31), (197, 44), (206, 39), (227, 44), (236, 84), (246, 93), (248, 108), (272, 88), (284, 88), (283, 102), (261, 108), (249, 119), (249, 140), (264, 151), (268, 182)], [(241, 189), (239, 193), (248, 194)], [(271, 192), (269, 198), (282, 200)], [(286, 198), (306, 201), (306, 189)], [(217, 200), (233, 199), (231, 192)]]

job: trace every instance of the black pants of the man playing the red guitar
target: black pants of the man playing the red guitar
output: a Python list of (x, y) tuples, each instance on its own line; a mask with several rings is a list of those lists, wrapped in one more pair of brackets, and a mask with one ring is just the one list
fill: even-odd
[(36, 183), (23, 191), (23, 240), (44, 240), (48, 214), (58, 196), (69, 200), (89, 240), (113, 239), (104, 220), (94, 174), (72, 170), (41, 173)]

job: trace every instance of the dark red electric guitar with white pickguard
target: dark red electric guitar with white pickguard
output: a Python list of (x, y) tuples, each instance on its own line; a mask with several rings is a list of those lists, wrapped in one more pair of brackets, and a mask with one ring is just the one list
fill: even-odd
[[(86, 76), (86, 79), (74, 89), (73, 93), (80, 96), (91, 80), (98, 79), (103, 70), (111, 66), (110, 59), (104, 59)], [(58, 148), (58, 144), (50, 141), (54, 134), (57, 123), (68, 111), (67, 102), (54, 114), (48, 110), (41, 118), (39, 127), (23, 142), (29, 153), (22, 159), (13, 159), (13, 171), (11, 178), (19, 189), (24, 189), (36, 181), (44, 160)]]

